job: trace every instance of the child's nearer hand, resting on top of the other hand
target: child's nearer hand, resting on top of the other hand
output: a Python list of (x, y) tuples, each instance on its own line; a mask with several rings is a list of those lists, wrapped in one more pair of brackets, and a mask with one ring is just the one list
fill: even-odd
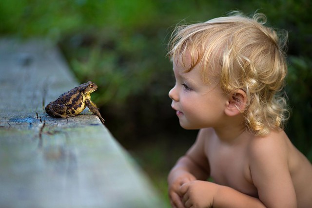
[(192, 181), (183, 184), (179, 191), (185, 208), (213, 207), (219, 185), (207, 181)]

